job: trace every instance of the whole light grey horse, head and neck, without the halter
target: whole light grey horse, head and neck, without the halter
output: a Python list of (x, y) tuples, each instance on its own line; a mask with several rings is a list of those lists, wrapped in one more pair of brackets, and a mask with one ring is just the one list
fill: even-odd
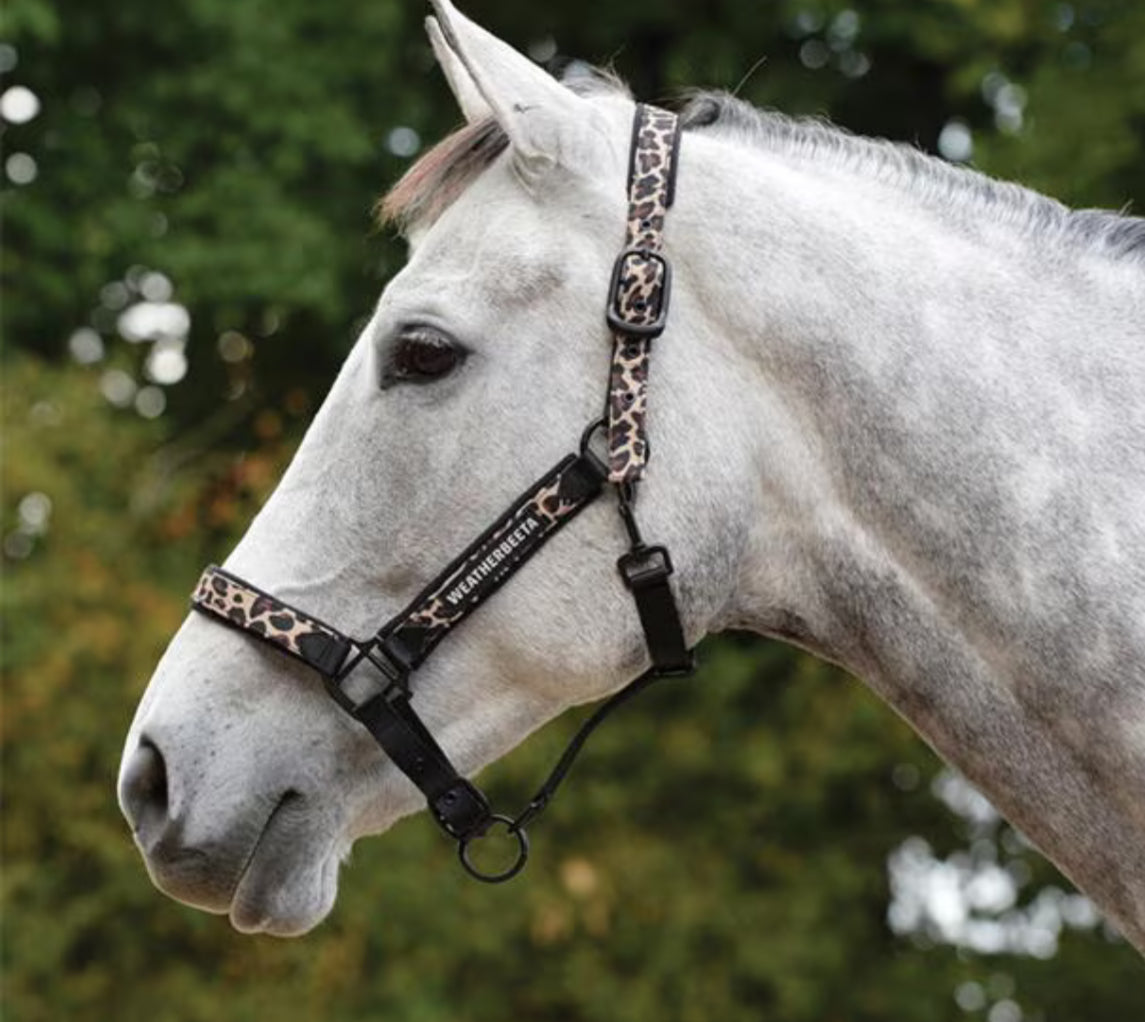
[[(205, 576), (269, 617), (190, 613), (126, 739), (151, 878), (246, 933), (316, 926), (350, 846), (423, 805), (317, 656), (250, 632), (289, 599), (313, 617), (286, 615), (284, 647), (300, 621), (338, 623), (324, 651), (369, 634), (586, 426), (578, 464), (600, 460), (637, 108), (433, 6), (466, 125), (387, 196), (409, 261)], [(469, 798), (532, 730), (645, 676), (647, 608), (616, 569), (635, 508), (671, 550), (682, 647), (750, 629), (842, 665), (1145, 950), (1145, 221), (724, 94), (679, 126), (663, 260), (622, 258), (665, 303), (672, 269), (639, 346), (639, 488), (606, 466), (605, 499), (419, 667), (417, 723), (388, 720)], [(481, 571), (531, 528), (497, 533)]]

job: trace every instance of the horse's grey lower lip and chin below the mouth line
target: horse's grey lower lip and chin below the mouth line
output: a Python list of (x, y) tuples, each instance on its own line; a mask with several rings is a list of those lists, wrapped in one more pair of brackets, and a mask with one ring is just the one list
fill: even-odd
[(314, 929), (338, 897), (339, 842), (287, 795), (267, 821), (230, 900), (239, 933), (278, 937)]

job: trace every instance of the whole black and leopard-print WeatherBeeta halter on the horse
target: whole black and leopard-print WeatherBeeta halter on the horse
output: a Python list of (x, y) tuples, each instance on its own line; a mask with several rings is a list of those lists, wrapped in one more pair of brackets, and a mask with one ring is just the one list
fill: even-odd
[[(584, 430), (577, 453), (537, 480), (369, 639), (352, 639), (214, 565), (203, 572), (191, 597), (195, 610), (271, 643), (316, 671), (338, 705), (365, 727), (420, 789), (439, 826), (457, 841), (461, 864), (479, 880), (507, 880), (524, 867), (529, 855), (526, 824), (544, 810), (589, 735), (613, 710), (657, 678), (693, 670), (669, 584), (672, 560), (665, 547), (645, 544), (634, 513), (637, 484), (648, 461), (645, 412), (652, 341), (663, 332), (668, 316), (671, 269), (662, 254), (663, 228), (672, 205), (679, 144), (674, 114), (637, 106), (625, 245), (613, 270), (607, 308), (614, 342), (607, 407), (603, 418)], [(601, 429), (607, 437), (607, 462), (592, 451)], [(635, 601), (652, 667), (581, 726), (524, 809), (515, 816), (493, 813), (485, 795), (457, 773), (413, 710), (410, 675), (450, 631), (592, 504), (606, 484), (616, 491), (630, 541), (616, 562), (617, 570)], [(515, 839), (515, 858), (505, 870), (485, 872), (472, 862), (469, 849), (496, 825)]]

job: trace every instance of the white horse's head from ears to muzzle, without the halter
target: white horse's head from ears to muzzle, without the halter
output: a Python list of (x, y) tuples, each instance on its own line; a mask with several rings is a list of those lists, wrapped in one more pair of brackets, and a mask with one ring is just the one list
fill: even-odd
[[(409, 262), (224, 565), (350, 635), (405, 605), (575, 446), (613, 347), (603, 307), (634, 104), (615, 85), (560, 84), (436, 7), (431, 40), (467, 124), (387, 198)], [(705, 351), (700, 309), (678, 288), (672, 330), (688, 342), (657, 351), (671, 402), (650, 413), (640, 500), (643, 528), (676, 552), (690, 642), (725, 610), (747, 538), (722, 521), (747, 470), (731, 417), (696, 411), (726, 406), (742, 374), (733, 352)], [(418, 671), (420, 720), (460, 771), (647, 667), (610, 504), (586, 508)], [(276, 934), (314, 926), (355, 839), (421, 805), (305, 665), (194, 613), (139, 707), (120, 800), (160, 888)]]

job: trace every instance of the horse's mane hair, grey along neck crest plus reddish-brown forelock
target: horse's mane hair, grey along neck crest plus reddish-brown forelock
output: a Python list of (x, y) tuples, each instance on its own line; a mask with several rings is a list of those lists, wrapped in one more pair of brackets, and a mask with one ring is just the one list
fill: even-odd
[[(561, 80), (579, 95), (627, 96), (610, 71), (574, 62)], [(836, 166), (884, 181), (924, 204), (974, 209), (995, 222), (1059, 238), (1114, 259), (1145, 261), (1145, 219), (1107, 209), (1071, 209), (1020, 184), (930, 156), (901, 142), (866, 138), (816, 118), (761, 110), (719, 90), (695, 90), (680, 111), (685, 130), (705, 132), (789, 158)], [(432, 223), (508, 148), (492, 119), (466, 125), (419, 159), (377, 204), (381, 224), (406, 233)]]

